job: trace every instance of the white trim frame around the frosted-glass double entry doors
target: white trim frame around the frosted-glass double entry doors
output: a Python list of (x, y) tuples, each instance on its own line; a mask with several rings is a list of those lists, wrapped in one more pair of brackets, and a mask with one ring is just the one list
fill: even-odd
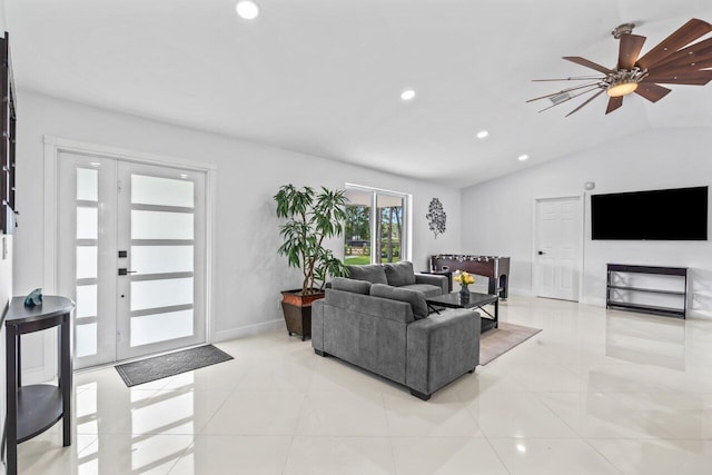
[[(144, 165), (156, 165), (161, 167), (182, 168), (192, 171), (205, 172), (206, 182), (206, 229), (205, 229), (205, 336), (206, 343), (214, 342), (216, 325), (212, 321), (212, 309), (215, 308), (214, 285), (215, 266), (214, 249), (216, 239), (216, 178), (217, 166), (214, 164), (191, 161), (156, 154), (147, 154), (135, 150), (127, 150), (117, 147), (88, 144), (76, 140), (61, 139), (52, 136), (44, 136), (44, 261), (43, 261), (43, 291), (55, 294), (57, 290), (58, 268), (57, 249), (59, 246), (59, 229), (57, 217), (59, 214), (59, 156), (61, 152), (92, 155), (97, 157), (112, 158), (116, 160), (131, 161)], [(56, 338), (50, 338), (52, 348), (47, 345), (44, 350), (56, 354)], [(46, 365), (47, 366), (47, 365)], [(50, 365), (51, 366), (51, 365)]]

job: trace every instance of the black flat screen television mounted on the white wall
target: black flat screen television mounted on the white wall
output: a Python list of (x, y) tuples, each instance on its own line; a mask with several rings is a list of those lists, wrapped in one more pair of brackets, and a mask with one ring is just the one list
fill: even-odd
[(708, 240), (708, 187), (591, 196), (591, 238)]

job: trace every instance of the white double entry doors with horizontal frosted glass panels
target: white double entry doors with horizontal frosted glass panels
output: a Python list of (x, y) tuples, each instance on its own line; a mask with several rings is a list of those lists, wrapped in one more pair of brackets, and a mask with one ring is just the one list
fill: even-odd
[(205, 342), (205, 174), (59, 156), (58, 290), (75, 367)]

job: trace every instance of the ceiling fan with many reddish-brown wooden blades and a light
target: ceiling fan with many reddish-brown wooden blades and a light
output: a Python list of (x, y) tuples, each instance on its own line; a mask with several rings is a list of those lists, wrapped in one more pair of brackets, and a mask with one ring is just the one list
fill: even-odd
[(640, 58), (645, 37), (632, 34), (634, 27), (633, 23), (625, 23), (611, 31), (611, 34), (620, 40), (619, 62), (614, 68), (606, 68), (577, 56), (566, 56), (563, 59), (594, 69), (603, 76), (535, 79), (535, 82), (584, 81), (585, 83), (530, 99), (527, 102), (551, 99), (554, 105), (540, 110), (543, 112), (578, 96), (595, 92), (568, 112), (566, 115), (568, 117), (606, 92), (609, 106), (605, 113), (611, 113), (623, 105), (623, 97), (632, 92), (651, 102), (657, 102), (670, 92), (670, 89), (660, 85), (704, 86), (712, 80), (712, 69), (710, 69), (712, 68), (712, 38), (690, 44), (712, 31), (712, 24), (693, 18)]

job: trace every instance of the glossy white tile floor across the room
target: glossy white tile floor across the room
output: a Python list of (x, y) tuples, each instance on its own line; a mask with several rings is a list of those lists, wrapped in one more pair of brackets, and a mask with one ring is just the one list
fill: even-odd
[(543, 328), (429, 402), (286, 330), (235, 359), (128, 389), (76, 377), (76, 438), (19, 447), (22, 474), (712, 473), (712, 321), (516, 298)]

